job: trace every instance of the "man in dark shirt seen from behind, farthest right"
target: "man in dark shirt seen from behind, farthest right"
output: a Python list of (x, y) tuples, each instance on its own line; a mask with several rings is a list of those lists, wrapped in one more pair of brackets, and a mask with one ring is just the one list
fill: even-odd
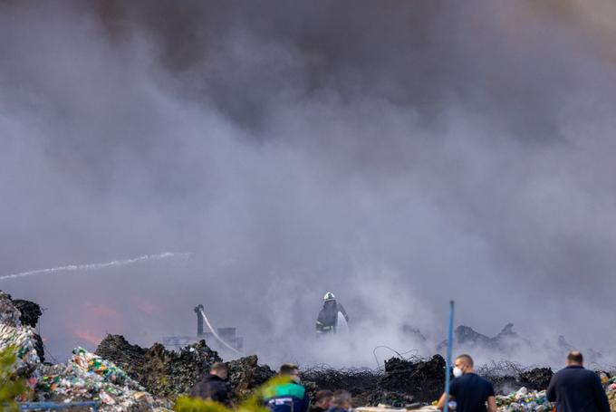
[(554, 373), (547, 398), (556, 402), (558, 412), (610, 412), (601, 378), (584, 369), (582, 353), (569, 352), (567, 367)]

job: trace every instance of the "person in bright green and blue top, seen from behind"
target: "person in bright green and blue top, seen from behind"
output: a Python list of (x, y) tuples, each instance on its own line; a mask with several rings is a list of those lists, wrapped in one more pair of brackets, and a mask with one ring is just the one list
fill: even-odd
[(290, 363), (280, 367), (281, 383), (264, 390), (265, 405), (272, 412), (308, 412), (310, 400), (306, 389), (300, 385), (300, 370)]

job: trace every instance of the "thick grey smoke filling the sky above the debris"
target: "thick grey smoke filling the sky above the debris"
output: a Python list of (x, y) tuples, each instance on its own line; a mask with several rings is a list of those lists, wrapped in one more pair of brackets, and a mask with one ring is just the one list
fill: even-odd
[[(0, 289), (47, 308), (59, 359), (194, 334), (198, 303), (274, 363), (368, 364), (417, 347), (404, 323), (438, 342), (449, 299), (488, 335), (609, 350), (614, 22), (611, 0), (0, 1), (0, 275), (190, 254)], [(352, 343), (313, 342), (330, 290)]]

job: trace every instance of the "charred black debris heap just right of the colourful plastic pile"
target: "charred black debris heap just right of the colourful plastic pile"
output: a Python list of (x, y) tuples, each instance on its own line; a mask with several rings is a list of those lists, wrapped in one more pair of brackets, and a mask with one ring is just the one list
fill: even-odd
[[(173, 351), (159, 343), (144, 349), (131, 345), (123, 336), (107, 335), (95, 353), (126, 370), (130, 378), (149, 392), (169, 399), (188, 393), (214, 362), (222, 361), (205, 340)], [(235, 398), (245, 398), (275, 374), (267, 365), (259, 365), (255, 355), (231, 360), (226, 365)]]

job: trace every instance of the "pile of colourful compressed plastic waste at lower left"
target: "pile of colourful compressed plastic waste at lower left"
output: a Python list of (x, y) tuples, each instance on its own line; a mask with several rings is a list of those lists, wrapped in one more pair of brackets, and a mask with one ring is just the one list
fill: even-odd
[(18, 302), (15, 305), (9, 294), (0, 291), (0, 350), (16, 350), (14, 377), (24, 378), (28, 388), (20, 400), (95, 400), (103, 411), (162, 408), (159, 398), (152, 397), (122, 369), (82, 348), (73, 350), (65, 364), (43, 364), (37, 353), (41, 340), (34, 332), (40, 308), (32, 302)]

